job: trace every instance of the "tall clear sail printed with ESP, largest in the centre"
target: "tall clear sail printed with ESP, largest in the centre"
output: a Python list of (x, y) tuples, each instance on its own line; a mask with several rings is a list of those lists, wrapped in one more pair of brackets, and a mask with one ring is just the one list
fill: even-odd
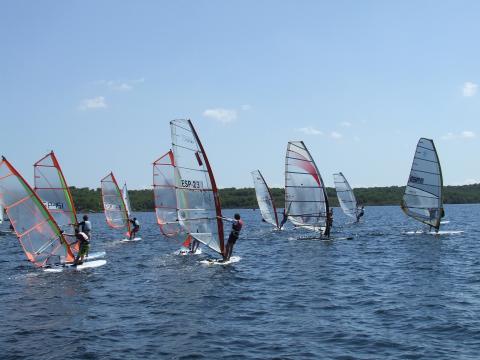
[(223, 254), (222, 210), (207, 154), (190, 120), (173, 120), (170, 127), (178, 221), (187, 234)]

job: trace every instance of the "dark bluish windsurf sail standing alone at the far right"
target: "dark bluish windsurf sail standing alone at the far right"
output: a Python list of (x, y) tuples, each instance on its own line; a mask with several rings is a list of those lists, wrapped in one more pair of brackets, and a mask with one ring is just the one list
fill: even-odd
[(402, 200), (402, 210), (424, 224), (440, 229), (444, 215), (442, 168), (433, 140), (418, 141)]

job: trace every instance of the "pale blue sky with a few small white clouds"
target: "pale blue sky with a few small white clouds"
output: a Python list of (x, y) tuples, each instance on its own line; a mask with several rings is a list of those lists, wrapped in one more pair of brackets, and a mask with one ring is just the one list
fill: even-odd
[(303, 140), (328, 186), (404, 185), (420, 137), (480, 182), (478, 1), (2, 1), (0, 153), (70, 186), (149, 188), (190, 118), (217, 185), (283, 187)]

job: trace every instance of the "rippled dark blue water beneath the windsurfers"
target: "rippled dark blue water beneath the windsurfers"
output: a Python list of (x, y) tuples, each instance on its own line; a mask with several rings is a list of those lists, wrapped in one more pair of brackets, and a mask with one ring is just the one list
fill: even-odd
[[(368, 207), (365, 222), (334, 236), (297, 240), (259, 212), (229, 266), (176, 256), (153, 213), (138, 214), (143, 241), (92, 215), (92, 251), (107, 265), (45, 273), (17, 240), (0, 237), (2, 359), (478, 359), (480, 205), (446, 207), (444, 229), (419, 229), (398, 207)], [(233, 211), (225, 211), (232, 216)]]

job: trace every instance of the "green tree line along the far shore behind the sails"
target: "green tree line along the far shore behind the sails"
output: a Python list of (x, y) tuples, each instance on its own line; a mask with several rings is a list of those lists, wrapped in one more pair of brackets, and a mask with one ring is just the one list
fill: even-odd
[[(404, 186), (357, 188), (354, 190), (357, 202), (362, 205), (399, 205), (405, 191)], [(100, 189), (71, 188), (77, 210), (102, 211), (102, 196)], [(285, 191), (281, 188), (271, 189), (272, 196), (278, 208), (284, 206)], [(334, 188), (327, 188), (328, 198), (332, 206), (338, 206)], [(130, 202), (135, 211), (153, 211), (153, 190), (129, 190)], [(445, 186), (444, 203), (471, 204), (480, 203), (480, 184)], [(223, 208), (257, 208), (254, 188), (225, 188), (219, 190)]]

